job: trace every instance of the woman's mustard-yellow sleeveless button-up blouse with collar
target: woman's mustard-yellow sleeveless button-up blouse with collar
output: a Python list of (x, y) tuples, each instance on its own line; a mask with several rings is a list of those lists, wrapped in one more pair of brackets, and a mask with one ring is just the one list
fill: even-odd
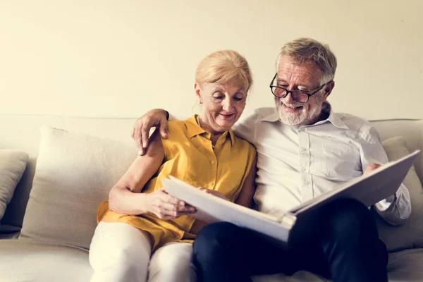
[[(151, 193), (163, 187), (162, 178), (175, 176), (195, 187), (221, 192), (235, 202), (255, 158), (256, 150), (247, 141), (236, 137), (232, 130), (223, 133), (212, 147), (210, 133), (197, 124), (195, 116), (185, 121), (169, 121), (168, 138), (162, 139), (164, 160), (157, 173), (142, 189)], [(162, 220), (154, 214), (128, 216), (108, 209), (102, 202), (97, 222), (124, 222), (147, 232), (153, 250), (171, 242), (192, 243), (204, 222), (191, 216)]]

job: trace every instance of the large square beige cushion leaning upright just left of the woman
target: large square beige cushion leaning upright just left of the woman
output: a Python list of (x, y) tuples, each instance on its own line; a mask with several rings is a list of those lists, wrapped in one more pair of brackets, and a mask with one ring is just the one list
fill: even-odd
[(136, 157), (135, 146), (42, 127), (20, 238), (88, 248), (99, 203)]

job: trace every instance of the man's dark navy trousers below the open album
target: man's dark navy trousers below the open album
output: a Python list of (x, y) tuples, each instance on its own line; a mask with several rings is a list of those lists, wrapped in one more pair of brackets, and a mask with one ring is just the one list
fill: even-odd
[(232, 223), (202, 228), (194, 241), (199, 281), (252, 281), (250, 276), (311, 271), (334, 282), (388, 281), (386, 246), (369, 209), (338, 200), (322, 209), (319, 232), (286, 250), (254, 231)]

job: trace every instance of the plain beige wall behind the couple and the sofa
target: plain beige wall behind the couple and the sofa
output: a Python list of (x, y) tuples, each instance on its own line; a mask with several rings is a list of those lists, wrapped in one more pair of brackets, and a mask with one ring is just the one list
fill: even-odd
[(423, 1), (0, 0), (0, 114), (192, 114), (198, 61), (235, 49), (272, 106), (281, 45), (297, 37), (338, 56), (336, 111), (423, 118)]

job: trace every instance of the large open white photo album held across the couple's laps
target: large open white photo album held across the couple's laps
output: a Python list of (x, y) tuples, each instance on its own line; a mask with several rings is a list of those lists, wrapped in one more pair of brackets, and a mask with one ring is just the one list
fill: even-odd
[(223, 200), (189, 185), (173, 176), (162, 179), (169, 195), (196, 207), (196, 219), (208, 223), (228, 221), (244, 228), (261, 233), (276, 243), (288, 247), (307, 235), (317, 222), (319, 208), (333, 200), (353, 198), (370, 207), (376, 202), (395, 194), (414, 163), (419, 150), (396, 161), (388, 162), (376, 170), (343, 183), (331, 192), (324, 193), (312, 200), (290, 209), (281, 216), (271, 216), (255, 209), (240, 206)]

